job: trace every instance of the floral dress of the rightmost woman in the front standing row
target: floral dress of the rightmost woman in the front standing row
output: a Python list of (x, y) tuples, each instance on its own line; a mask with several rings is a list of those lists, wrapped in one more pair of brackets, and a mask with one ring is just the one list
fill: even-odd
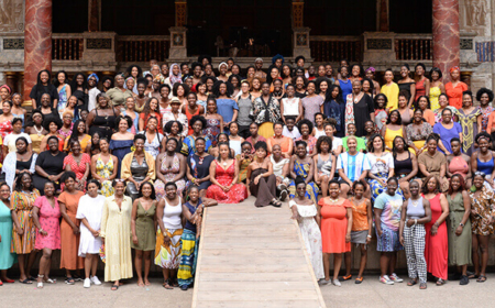
[(482, 193), (477, 198), (474, 197), (474, 193), (470, 193), (471, 210), (474, 211), (474, 216), (471, 218), (471, 228), (473, 234), (490, 235), (493, 234), (493, 223), (488, 223), (491, 216), (495, 216), (495, 195), (491, 189), (486, 187), (482, 188)]

